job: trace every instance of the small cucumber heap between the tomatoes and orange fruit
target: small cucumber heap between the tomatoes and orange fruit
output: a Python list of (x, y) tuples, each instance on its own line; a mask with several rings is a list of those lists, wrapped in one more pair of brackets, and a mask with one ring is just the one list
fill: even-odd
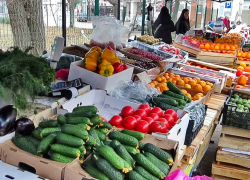
[(168, 91), (163, 91), (162, 94), (151, 99), (151, 103), (153, 103), (154, 106), (162, 110), (173, 109), (177, 111), (178, 109), (184, 109), (187, 103), (192, 102), (192, 100), (184, 95), (171, 81), (167, 82), (167, 86), (169, 88)]

